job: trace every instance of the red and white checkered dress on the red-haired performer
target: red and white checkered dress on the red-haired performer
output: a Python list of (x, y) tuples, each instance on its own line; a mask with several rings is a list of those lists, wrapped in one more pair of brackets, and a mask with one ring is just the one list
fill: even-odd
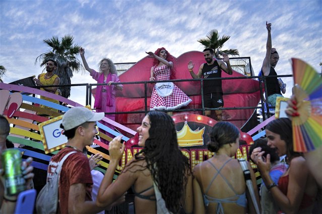
[[(166, 65), (155, 67), (153, 69), (154, 77), (156, 80), (169, 80), (170, 79), (170, 68)], [(188, 105), (192, 100), (178, 88), (175, 84), (173, 92), (169, 96), (161, 97), (157, 93), (155, 87), (153, 87), (150, 110), (174, 110), (179, 109), (183, 106)]]

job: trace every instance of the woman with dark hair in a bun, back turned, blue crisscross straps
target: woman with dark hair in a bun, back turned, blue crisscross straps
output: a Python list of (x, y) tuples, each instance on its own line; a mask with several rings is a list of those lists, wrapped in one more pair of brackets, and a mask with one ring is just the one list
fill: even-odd
[[(212, 128), (208, 149), (215, 155), (195, 166), (193, 172), (195, 213), (255, 213), (243, 170), (238, 160), (231, 158), (239, 138), (239, 130), (231, 123), (219, 122)], [(247, 165), (259, 204), (255, 175)]]

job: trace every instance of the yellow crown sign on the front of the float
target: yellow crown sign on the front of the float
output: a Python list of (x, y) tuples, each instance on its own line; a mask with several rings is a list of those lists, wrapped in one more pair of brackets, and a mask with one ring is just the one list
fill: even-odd
[(205, 128), (201, 130), (196, 129), (192, 131), (188, 126), (188, 123), (185, 121), (182, 129), (177, 132), (178, 144), (180, 147), (188, 147), (188, 146), (202, 146), (204, 145), (204, 132)]

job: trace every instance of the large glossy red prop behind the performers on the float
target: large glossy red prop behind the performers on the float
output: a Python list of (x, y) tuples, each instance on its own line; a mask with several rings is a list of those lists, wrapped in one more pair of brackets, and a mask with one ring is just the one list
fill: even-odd
[[(170, 50), (171, 52), (171, 50)], [(187, 79), (187, 81), (175, 82), (175, 84), (185, 92), (192, 101), (184, 109), (188, 114), (199, 114), (202, 112), (188, 112), (188, 109), (201, 109), (201, 86), (200, 81), (191, 81), (190, 73), (187, 69), (187, 63), (192, 60), (195, 63), (194, 71), (198, 72), (202, 63), (205, 63), (203, 52), (190, 51), (175, 58), (175, 77), (176, 79)], [(121, 82), (149, 81), (152, 59), (145, 57), (130, 69), (119, 76)], [(222, 77), (241, 77), (244, 76), (238, 72), (228, 75), (222, 72)], [(123, 90), (116, 94), (116, 112), (133, 112), (150, 110), (150, 97), (155, 83), (124, 84)], [(256, 106), (260, 101), (260, 84), (254, 79), (226, 79), (222, 80), (223, 98), (225, 108)], [(146, 90), (145, 90), (146, 88)], [(144, 97), (147, 93), (147, 106)], [(225, 110), (223, 111), (223, 120), (229, 121), (238, 128), (248, 121), (254, 109), (245, 110)], [(181, 114), (183, 112), (180, 112)], [(174, 113), (175, 114), (175, 113)], [(145, 114), (121, 114), (116, 115), (115, 121), (127, 126), (133, 130), (141, 124)]]

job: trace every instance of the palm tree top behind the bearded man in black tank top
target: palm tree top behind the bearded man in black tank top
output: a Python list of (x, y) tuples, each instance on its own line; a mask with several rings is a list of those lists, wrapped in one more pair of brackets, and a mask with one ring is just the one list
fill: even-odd
[(239, 52), (237, 49), (229, 49), (222, 51), (222, 47), (224, 46), (224, 43), (228, 41), (230, 36), (223, 35), (221, 39), (219, 38), (218, 31), (216, 29), (211, 30), (207, 37), (204, 39), (198, 40), (202, 45), (205, 46), (205, 48), (212, 48), (215, 51), (216, 58), (219, 57), (219, 55), (222, 55), (223, 53), (227, 55), (238, 55)]

